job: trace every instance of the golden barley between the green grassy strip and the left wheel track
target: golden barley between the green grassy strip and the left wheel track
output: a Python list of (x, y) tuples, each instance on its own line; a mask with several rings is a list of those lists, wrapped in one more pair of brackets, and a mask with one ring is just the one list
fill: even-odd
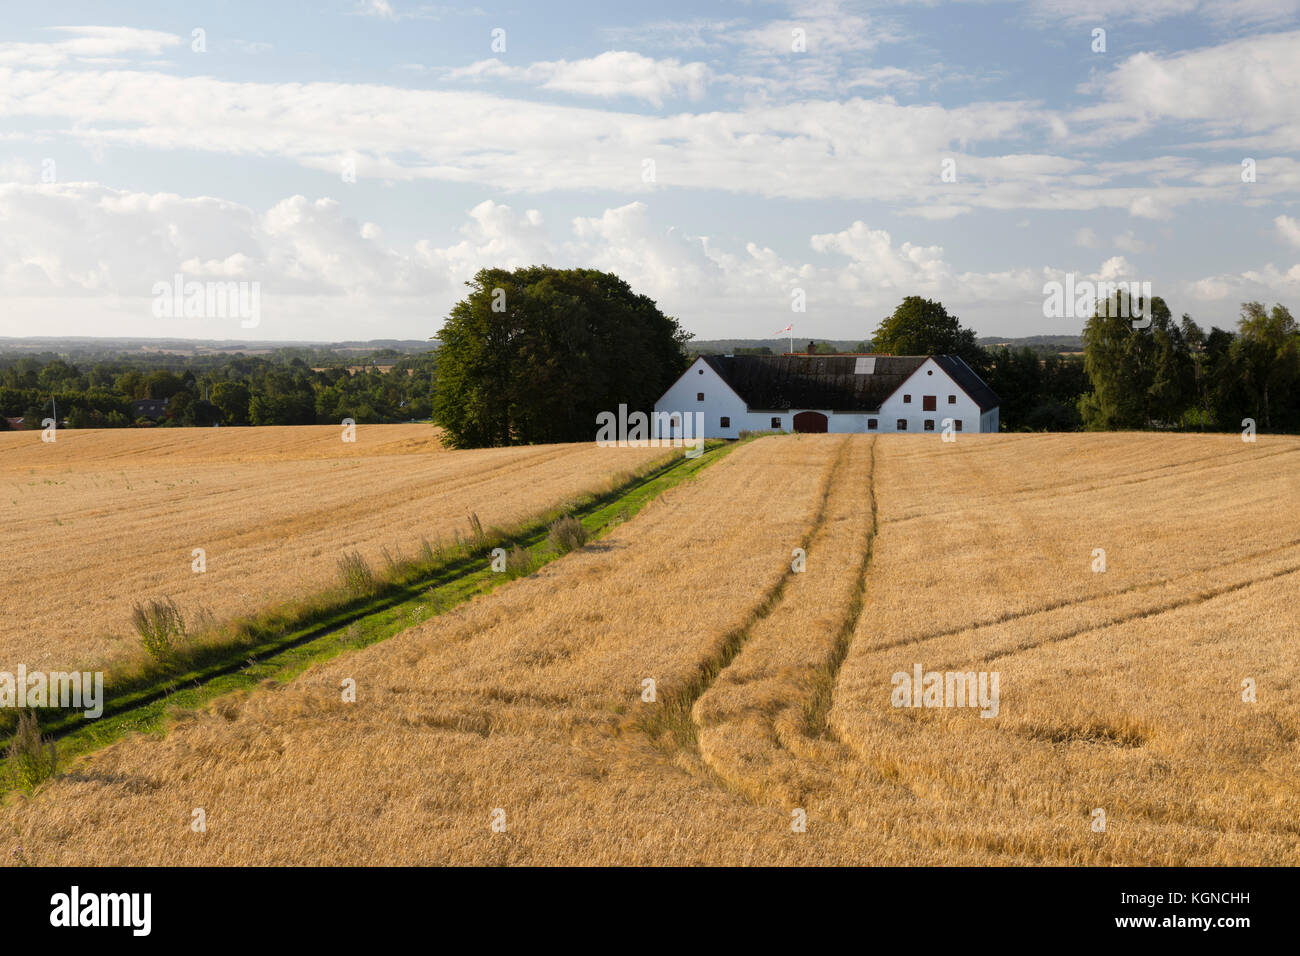
[[(533, 576), (225, 708), (233, 719), (90, 757), (10, 804), (4, 830), (39, 862), (667, 862), (737, 826), (779, 851), (783, 813), (675, 769), (632, 722), (654, 706), (645, 678), (660, 697), (689, 685), (780, 580), (840, 441), (741, 446)], [(195, 806), (207, 834), (186, 829)]]

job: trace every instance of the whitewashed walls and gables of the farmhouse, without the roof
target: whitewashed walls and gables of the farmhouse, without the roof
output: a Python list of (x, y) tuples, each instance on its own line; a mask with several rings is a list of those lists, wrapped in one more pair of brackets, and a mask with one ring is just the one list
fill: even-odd
[[(703, 394), (703, 401), (698, 397)], [(904, 395), (911, 395), (911, 402), (905, 402)], [(924, 395), (935, 395), (935, 411), (924, 411)], [(954, 395), (956, 402), (949, 403), (948, 397)], [(944, 429), (944, 419), (961, 420), (962, 432), (996, 432), (997, 410), (993, 408), (984, 415), (979, 406), (972, 402), (965, 392), (954, 382), (946, 372), (933, 359), (927, 359), (918, 368), (902, 388), (894, 392), (879, 412), (841, 412), (833, 414), (829, 408), (790, 408), (789, 411), (750, 411), (740, 395), (732, 392), (731, 386), (719, 377), (712, 367), (703, 359), (696, 359), (685, 375), (663, 393), (655, 402), (656, 414), (694, 414), (705, 415), (706, 438), (737, 438), (744, 431), (794, 431), (794, 416), (802, 411), (818, 411), (827, 416), (827, 429), (836, 434), (896, 432), (898, 419), (906, 419), (907, 433), (926, 433), (926, 420), (935, 423), (933, 432)], [(722, 420), (728, 419), (723, 425)], [(774, 419), (777, 424), (774, 424)], [(876, 419), (876, 428), (868, 428), (870, 419)], [(694, 434), (692, 434), (694, 437)]]

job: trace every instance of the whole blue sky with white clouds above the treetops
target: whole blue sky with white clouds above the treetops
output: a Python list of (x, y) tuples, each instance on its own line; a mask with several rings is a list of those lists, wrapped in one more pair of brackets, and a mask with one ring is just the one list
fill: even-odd
[(699, 338), (1072, 334), (1066, 273), (1234, 328), (1297, 148), (1300, 0), (10, 4), (0, 337), (424, 339), (530, 264)]

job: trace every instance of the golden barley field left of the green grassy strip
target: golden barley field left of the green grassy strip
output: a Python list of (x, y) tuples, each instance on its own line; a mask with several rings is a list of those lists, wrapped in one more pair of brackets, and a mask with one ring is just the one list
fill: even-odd
[[(477, 514), (507, 525), (663, 449), (447, 451), (430, 425), (0, 433), (0, 661), (103, 666), (135, 652), (130, 611), (172, 597), (216, 620), (382, 564)], [(202, 574), (194, 550), (203, 550)], [(0, 665), (3, 667), (3, 665)]]

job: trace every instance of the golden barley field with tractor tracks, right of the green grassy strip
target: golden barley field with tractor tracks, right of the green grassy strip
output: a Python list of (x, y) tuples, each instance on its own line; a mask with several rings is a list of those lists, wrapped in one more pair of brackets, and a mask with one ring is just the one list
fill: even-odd
[[(1297, 865), (1297, 503), (1296, 438), (760, 438), (533, 575), (10, 795), (0, 842)], [(896, 706), (916, 666), (996, 672), (996, 714)]]

